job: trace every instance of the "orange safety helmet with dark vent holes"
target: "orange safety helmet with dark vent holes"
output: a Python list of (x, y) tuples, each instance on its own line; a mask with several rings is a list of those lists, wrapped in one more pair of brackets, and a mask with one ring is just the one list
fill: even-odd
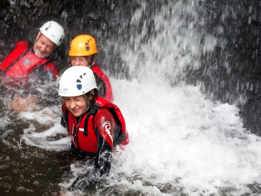
[(95, 53), (98, 53), (96, 42), (90, 35), (78, 35), (70, 44), (69, 56), (89, 56)]

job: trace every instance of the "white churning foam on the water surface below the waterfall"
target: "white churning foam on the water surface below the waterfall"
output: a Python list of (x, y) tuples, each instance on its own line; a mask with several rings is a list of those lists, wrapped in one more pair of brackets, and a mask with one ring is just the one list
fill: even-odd
[[(189, 195), (209, 195), (218, 193), (219, 187), (244, 193), (246, 184), (260, 182), (261, 138), (245, 133), (235, 105), (213, 103), (190, 85), (110, 81), (131, 140), (124, 151), (113, 154), (106, 177), (111, 185), (165, 195), (157, 187), (169, 183)], [(33, 113), (39, 123), (50, 123), (43, 112)], [(20, 115), (31, 119), (30, 112)], [(49, 136), (66, 133), (59, 120), (52, 120), (53, 127), (43, 132), (29, 127), (22, 138), (29, 145), (62, 150), (69, 138), (48, 141)], [(130, 180), (135, 176), (139, 179)], [(151, 185), (144, 186), (145, 182)]]

